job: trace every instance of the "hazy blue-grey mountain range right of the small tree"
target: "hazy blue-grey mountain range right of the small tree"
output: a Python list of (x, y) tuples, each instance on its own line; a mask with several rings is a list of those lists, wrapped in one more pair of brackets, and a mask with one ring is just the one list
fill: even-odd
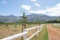
[(43, 14), (31, 14), (28, 15), (28, 20), (36, 21), (36, 20), (41, 20), (41, 21), (48, 21), (48, 20), (56, 20), (57, 18), (60, 18), (60, 16), (47, 16)]

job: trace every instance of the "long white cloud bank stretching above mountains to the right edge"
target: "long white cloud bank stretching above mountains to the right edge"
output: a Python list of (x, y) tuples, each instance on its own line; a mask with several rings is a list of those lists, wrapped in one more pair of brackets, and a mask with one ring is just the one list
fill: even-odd
[(28, 11), (30, 13), (45, 14), (49, 16), (60, 16), (60, 3), (56, 4), (52, 8), (47, 8), (46, 10)]

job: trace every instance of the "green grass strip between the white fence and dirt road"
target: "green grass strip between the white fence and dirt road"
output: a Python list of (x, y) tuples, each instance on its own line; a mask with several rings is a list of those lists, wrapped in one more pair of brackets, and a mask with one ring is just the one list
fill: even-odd
[(39, 33), (39, 37), (33, 37), (32, 40), (48, 40), (48, 31), (47, 28), (44, 27), (42, 31)]

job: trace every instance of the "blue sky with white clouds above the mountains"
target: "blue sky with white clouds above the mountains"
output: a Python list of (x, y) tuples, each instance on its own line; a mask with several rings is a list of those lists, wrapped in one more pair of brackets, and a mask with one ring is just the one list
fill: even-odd
[(0, 0), (0, 15), (44, 14), (60, 16), (60, 0)]

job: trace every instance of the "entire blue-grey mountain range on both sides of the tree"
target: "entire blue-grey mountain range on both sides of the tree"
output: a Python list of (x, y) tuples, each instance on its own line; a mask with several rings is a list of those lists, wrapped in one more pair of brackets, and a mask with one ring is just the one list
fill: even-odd
[[(47, 16), (43, 14), (31, 14), (31, 15), (26, 15), (27, 19), (29, 21), (36, 21), (36, 20), (41, 20), (41, 21), (48, 21), (48, 20), (56, 20), (60, 18), (60, 16)], [(0, 15), (0, 21), (2, 22), (17, 22), (22, 18), (22, 16), (2, 16)]]

